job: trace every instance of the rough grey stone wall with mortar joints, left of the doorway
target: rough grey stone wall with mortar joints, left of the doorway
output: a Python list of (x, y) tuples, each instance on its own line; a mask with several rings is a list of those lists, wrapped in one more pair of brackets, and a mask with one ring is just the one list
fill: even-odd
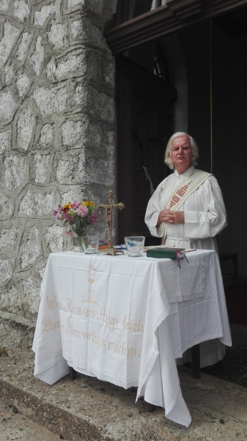
[(35, 320), (47, 257), (62, 250), (52, 209), (114, 188), (115, 65), (103, 30), (116, 3), (0, 0), (0, 311), (18, 322)]

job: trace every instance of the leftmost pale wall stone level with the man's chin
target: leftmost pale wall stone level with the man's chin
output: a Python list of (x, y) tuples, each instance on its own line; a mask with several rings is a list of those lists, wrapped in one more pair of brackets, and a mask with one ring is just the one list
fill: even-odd
[(4, 183), (8, 190), (18, 188), (27, 181), (27, 158), (23, 156), (8, 156), (4, 160)]

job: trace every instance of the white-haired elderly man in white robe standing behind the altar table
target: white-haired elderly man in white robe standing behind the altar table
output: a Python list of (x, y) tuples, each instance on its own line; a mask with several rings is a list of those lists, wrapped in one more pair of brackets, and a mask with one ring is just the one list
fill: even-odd
[[(165, 151), (165, 164), (174, 170), (148, 202), (145, 222), (166, 246), (216, 250), (215, 236), (227, 225), (226, 210), (214, 176), (197, 170), (199, 150), (187, 133), (174, 133)], [(200, 344), (201, 368), (221, 360), (224, 345), (218, 340)], [(177, 364), (190, 360), (186, 351)]]

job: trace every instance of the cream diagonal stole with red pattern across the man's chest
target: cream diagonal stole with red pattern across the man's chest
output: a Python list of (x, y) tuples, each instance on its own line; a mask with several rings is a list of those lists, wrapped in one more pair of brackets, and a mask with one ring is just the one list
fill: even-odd
[[(186, 199), (211, 175), (212, 173), (208, 173), (207, 171), (194, 169), (172, 190), (164, 210), (178, 211)], [(168, 226), (168, 223), (163, 222), (164, 232), (161, 241), (162, 245), (164, 245), (165, 242)]]

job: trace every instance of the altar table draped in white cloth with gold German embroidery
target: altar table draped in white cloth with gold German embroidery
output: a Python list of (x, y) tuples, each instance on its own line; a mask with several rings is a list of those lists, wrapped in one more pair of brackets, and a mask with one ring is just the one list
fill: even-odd
[(41, 283), (34, 375), (51, 385), (70, 366), (136, 386), (136, 400), (144, 396), (188, 427), (175, 360), (204, 342), (201, 363), (214, 363), (231, 346), (231, 334), (217, 254), (197, 250), (187, 258), (179, 269), (170, 259), (51, 253)]

